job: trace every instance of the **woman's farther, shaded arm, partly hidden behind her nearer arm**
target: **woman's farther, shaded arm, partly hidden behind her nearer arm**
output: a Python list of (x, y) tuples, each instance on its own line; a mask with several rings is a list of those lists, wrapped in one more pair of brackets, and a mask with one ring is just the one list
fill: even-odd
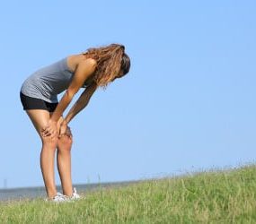
[(75, 102), (74, 106), (68, 111), (64, 122), (68, 124), (82, 109), (84, 109), (89, 100), (91, 99), (93, 92), (97, 89), (97, 84), (93, 82), (91, 85), (87, 86), (84, 92), (81, 94), (79, 99)]

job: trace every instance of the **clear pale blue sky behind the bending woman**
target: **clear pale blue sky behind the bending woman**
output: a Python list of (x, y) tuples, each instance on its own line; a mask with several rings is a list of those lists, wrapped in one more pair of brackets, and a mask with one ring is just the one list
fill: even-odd
[(43, 185), (22, 82), (114, 42), (126, 46), (131, 70), (70, 123), (74, 184), (255, 162), (255, 10), (246, 0), (3, 2), (0, 187)]

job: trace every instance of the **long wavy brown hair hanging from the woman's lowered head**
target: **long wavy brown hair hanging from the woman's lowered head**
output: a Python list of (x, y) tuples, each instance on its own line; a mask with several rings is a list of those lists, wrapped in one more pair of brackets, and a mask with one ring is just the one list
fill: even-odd
[(92, 47), (82, 54), (96, 60), (97, 66), (93, 73), (93, 81), (103, 89), (106, 89), (109, 82), (118, 76), (120, 70), (123, 71), (123, 75), (129, 71), (130, 60), (123, 45), (110, 44), (106, 47)]

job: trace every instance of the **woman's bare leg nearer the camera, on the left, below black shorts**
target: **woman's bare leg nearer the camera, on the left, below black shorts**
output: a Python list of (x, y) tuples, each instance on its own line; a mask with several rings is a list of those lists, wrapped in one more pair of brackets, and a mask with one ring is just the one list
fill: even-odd
[(44, 109), (29, 109), (26, 110), (28, 116), (31, 118), (31, 122), (36, 128), (42, 142), (42, 149), (40, 152), (40, 168), (44, 179), (47, 194), (49, 198), (54, 197), (57, 194), (54, 175), (54, 158), (57, 147), (57, 136), (42, 137), (41, 130), (49, 122), (49, 111)]

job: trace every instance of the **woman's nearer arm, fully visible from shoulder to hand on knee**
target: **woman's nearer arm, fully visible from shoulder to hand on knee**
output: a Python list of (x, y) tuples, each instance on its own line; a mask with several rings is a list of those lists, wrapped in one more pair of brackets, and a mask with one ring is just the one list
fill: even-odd
[(69, 103), (75, 96), (75, 93), (83, 86), (86, 79), (94, 72), (95, 67), (96, 61), (92, 58), (88, 58), (79, 63), (70, 85), (49, 119), (49, 124), (42, 130), (44, 136), (49, 136), (56, 133), (58, 119), (68, 107)]

